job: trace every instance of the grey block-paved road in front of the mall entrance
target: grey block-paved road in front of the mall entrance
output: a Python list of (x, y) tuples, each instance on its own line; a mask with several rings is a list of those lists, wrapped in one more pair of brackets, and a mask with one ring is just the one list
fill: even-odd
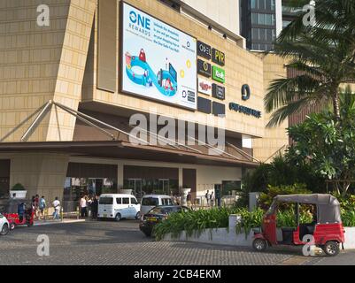
[[(39, 234), (49, 236), (50, 256), (37, 256)], [(300, 249), (269, 249), (259, 254), (228, 246), (158, 242), (143, 236), (134, 220), (17, 227), (0, 238), (0, 264), (355, 264), (354, 252), (342, 253), (336, 260), (300, 253)]]

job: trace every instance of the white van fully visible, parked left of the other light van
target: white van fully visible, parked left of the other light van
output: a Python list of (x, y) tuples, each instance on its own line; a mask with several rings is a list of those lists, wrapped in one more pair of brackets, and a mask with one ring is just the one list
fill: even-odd
[(135, 195), (104, 194), (98, 199), (97, 218), (136, 218), (140, 216), (141, 205)]

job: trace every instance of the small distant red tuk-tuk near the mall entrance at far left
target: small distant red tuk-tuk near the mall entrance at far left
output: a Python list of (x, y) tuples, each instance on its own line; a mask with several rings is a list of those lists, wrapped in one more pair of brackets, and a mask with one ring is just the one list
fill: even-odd
[(33, 203), (26, 199), (9, 199), (0, 203), (1, 211), (5, 218), (9, 221), (10, 228), (15, 226), (34, 225), (35, 210)]

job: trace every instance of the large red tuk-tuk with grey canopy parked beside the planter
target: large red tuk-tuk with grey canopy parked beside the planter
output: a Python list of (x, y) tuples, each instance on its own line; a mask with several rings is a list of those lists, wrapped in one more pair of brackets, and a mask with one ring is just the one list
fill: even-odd
[[(296, 203), (296, 227), (277, 229), (277, 210), (281, 203)], [(299, 223), (299, 204), (312, 204), (316, 208), (312, 223)], [(313, 245), (323, 249), (328, 256), (336, 256), (339, 245), (344, 242), (343, 233), (340, 204), (333, 195), (277, 195), (263, 218), (261, 232), (254, 232), (252, 246), (263, 251), (267, 246), (309, 245), (304, 237), (312, 235)]]

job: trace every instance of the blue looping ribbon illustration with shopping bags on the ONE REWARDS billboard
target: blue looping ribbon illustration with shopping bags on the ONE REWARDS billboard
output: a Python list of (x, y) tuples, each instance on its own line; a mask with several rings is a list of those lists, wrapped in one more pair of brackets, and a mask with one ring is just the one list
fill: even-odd
[[(126, 52), (125, 57), (126, 73), (130, 80), (144, 87), (152, 87), (154, 85), (164, 96), (176, 95), (177, 76), (174, 75), (174, 72), (171, 72), (174, 68), (170, 63), (170, 70), (168, 65), (167, 71), (160, 69), (158, 74), (155, 75), (147, 62), (147, 56), (143, 49), (140, 50), (139, 56), (131, 56), (129, 52)], [(135, 73), (132, 70), (134, 67), (142, 68), (144, 70), (143, 74)]]

